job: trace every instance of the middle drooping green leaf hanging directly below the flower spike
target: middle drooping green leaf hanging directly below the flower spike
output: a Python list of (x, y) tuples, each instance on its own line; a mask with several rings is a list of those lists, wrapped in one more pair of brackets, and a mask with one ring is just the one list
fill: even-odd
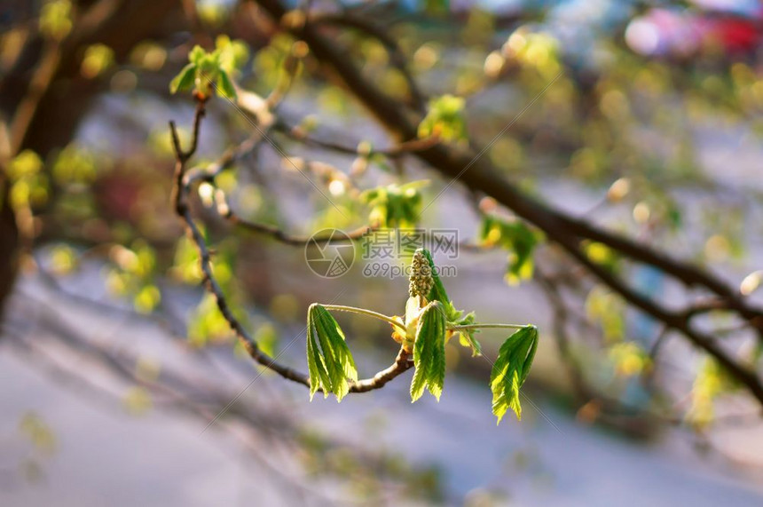
[(445, 380), (445, 313), (442, 303), (432, 301), (421, 311), (413, 344), (411, 401), (418, 400), (428, 388), (437, 400)]

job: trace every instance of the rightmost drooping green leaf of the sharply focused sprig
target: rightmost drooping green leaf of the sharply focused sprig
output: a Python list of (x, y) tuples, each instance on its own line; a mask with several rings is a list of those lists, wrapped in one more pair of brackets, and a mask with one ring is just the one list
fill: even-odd
[(535, 326), (517, 329), (500, 346), (490, 376), (492, 413), (498, 417), (496, 424), (500, 423), (508, 408), (514, 410), (517, 419), (522, 418), (519, 389), (530, 373), (537, 348), (538, 328)]

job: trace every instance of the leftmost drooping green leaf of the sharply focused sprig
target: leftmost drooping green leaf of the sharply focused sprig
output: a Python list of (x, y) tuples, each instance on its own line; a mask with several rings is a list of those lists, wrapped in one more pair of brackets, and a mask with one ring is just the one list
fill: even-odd
[(348, 392), (348, 379), (358, 380), (358, 369), (337, 321), (321, 305), (313, 304), (307, 313), (307, 366), (310, 373), (311, 400), (319, 387), (324, 397), (333, 392), (342, 401)]

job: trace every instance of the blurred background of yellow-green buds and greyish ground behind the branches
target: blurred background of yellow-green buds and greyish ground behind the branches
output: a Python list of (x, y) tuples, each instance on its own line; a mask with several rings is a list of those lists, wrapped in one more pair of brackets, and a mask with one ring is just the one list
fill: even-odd
[[(554, 238), (400, 148), (287, 31), (314, 23), (425, 144), (484, 147), (523, 193), (761, 303), (763, 5), (307, 0), (280, 4), (276, 23), (271, 4), (0, 2), (0, 503), (763, 503), (761, 408), (734, 378)], [(210, 93), (189, 163), (243, 148), (191, 208), (262, 348), (306, 371), (311, 303), (399, 315), (408, 289), (369, 275), (359, 243), (347, 273), (324, 278), (303, 242), (263, 229), (456, 231), (458, 255), (436, 256), (455, 269), (455, 305), (539, 326), (521, 421), (491, 414), (499, 331), (477, 336), (484, 357), (447, 345), (442, 399), (415, 404), (410, 373), (309, 402), (237, 345), (170, 200), (168, 122), (188, 146), (195, 105), (169, 83), (196, 44), (224, 55), (238, 90)], [(374, 188), (386, 197), (363, 194)], [(216, 189), (264, 226), (221, 216)], [(666, 307), (702, 296), (584, 246)], [(388, 325), (337, 320), (361, 376), (394, 360)], [(699, 327), (759, 371), (749, 325), (711, 308)]]

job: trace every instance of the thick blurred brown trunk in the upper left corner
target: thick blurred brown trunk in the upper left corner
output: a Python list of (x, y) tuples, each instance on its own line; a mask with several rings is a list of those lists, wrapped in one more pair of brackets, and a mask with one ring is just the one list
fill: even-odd
[[(75, 5), (73, 29), (62, 41), (38, 31), (19, 48), (0, 78), (0, 122), (7, 125), (7, 147), (0, 152), (0, 310), (11, 291), (21, 245), (17, 218), (7, 198), (7, 163), (24, 149), (43, 159), (75, 135), (76, 126), (103, 84), (80, 75), (80, 59), (90, 44), (106, 44), (117, 61), (148, 36), (161, 36), (175, 0), (100, 0)], [(175, 16), (183, 20), (182, 16)]]

